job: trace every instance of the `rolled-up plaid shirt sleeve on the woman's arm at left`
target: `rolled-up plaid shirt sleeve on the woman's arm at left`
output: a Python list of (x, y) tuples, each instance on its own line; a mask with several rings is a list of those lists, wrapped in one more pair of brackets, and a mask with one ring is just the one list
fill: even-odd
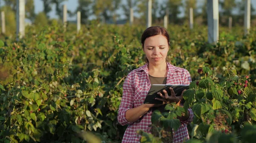
[(134, 108), (133, 97), (134, 97), (134, 86), (131, 84), (131, 74), (129, 73), (123, 84), (123, 94), (121, 104), (118, 109), (117, 121), (120, 125), (131, 124), (126, 120), (125, 114), (128, 109)]

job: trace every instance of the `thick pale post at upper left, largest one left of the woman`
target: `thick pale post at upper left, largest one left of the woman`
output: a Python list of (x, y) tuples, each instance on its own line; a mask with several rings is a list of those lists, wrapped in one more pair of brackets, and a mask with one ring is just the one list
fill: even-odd
[(25, 0), (17, 0), (16, 22), (16, 34), (19, 40), (25, 36)]

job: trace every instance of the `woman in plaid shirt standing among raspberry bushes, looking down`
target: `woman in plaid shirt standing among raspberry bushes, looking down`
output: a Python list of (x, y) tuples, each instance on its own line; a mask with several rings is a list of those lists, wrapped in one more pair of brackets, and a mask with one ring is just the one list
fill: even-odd
[[(165, 28), (153, 26), (147, 28), (141, 37), (143, 51), (147, 63), (131, 71), (123, 84), (123, 96), (118, 111), (118, 122), (124, 126), (128, 124), (122, 143), (139, 143), (140, 136), (137, 130), (151, 133), (152, 109), (158, 107), (155, 104), (143, 104), (151, 84), (189, 84), (191, 76), (188, 70), (175, 67), (166, 62), (169, 50), (169, 34)], [(165, 90), (165, 95), (159, 93), (162, 98), (157, 100), (179, 103), (180, 97), (176, 97), (172, 89), (171, 95)], [(180, 128), (173, 132), (173, 143), (180, 143), (189, 139), (186, 124), (193, 119), (193, 112), (188, 109), (187, 114), (179, 117)]]

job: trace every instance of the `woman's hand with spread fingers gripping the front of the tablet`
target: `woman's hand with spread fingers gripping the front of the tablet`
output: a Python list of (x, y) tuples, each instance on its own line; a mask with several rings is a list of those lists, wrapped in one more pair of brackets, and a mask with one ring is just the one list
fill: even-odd
[(175, 102), (176, 104), (179, 103), (183, 99), (183, 93), (185, 90), (182, 91), (180, 96), (176, 96), (174, 90), (171, 87), (169, 89), (171, 91), (171, 95), (168, 95), (166, 90), (163, 90), (164, 95), (162, 93), (157, 93), (162, 98), (155, 98), (155, 99), (159, 101), (163, 101), (165, 103), (172, 103), (172, 102)]

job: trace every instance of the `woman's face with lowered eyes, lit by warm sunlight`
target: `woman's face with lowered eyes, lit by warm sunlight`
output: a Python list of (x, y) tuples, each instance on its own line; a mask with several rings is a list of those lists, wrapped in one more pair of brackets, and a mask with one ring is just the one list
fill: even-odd
[(145, 39), (143, 51), (151, 64), (166, 62), (168, 50), (168, 41), (163, 35), (155, 35)]

